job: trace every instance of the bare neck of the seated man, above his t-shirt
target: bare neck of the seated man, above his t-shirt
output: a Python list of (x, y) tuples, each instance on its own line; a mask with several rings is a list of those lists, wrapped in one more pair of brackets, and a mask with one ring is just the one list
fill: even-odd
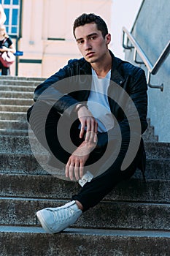
[(102, 61), (91, 63), (91, 67), (96, 71), (100, 78), (105, 78), (109, 70), (112, 68), (112, 56), (109, 51)]

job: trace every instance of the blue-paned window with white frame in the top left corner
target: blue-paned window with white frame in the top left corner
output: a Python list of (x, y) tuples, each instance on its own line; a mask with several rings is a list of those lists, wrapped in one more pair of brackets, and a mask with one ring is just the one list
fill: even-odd
[(0, 0), (0, 4), (4, 8), (7, 20), (4, 25), (7, 29), (7, 34), (18, 36), (19, 20), (20, 20), (20, 1), (21, 0)]

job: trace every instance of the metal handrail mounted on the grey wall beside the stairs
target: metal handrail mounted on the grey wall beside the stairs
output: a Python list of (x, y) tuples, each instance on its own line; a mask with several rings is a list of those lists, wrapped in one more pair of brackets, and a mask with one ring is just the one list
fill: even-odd
[[(125, 34), (128, 38), (126, 44), (125, 44)], [(128, 45), (128, 41), (131, 42), (131, 45)], [(123, 48), (125, 48), (126, 50), (131, 50), (132, 48), (134, 48), (134, 61), (137, 64), (144, 64), (147, 67), (147, 70), (148, 70), (147, 85), (150, 86), (151, 88), (157, 88), (163, 91), (163, 83), (161, 84), (161, 86), (152, 86), (150, 83), (150, 76), (155, 75), (158, 72), (163, 62), (169, 56), (170, 41), (168, 42), (168, 44), (166, 45), (166, 48), (164, 48), (163, 52), (161, 53), (161, 56), (159, 56), (158, 60), (155, 62), (154, 65), (152, 65), (152, 63), (150, 62), (150, 60), (147, 58), (144, 51), (140, 47), (139, 43), (136, 42), (136, 39), (134, 39), (133, 35), (127, 29), (125, 29), (125, 27), (123, 27)], [(139, 54), (142, 61), (137, 61), (136, 59), (137, 53)]]

